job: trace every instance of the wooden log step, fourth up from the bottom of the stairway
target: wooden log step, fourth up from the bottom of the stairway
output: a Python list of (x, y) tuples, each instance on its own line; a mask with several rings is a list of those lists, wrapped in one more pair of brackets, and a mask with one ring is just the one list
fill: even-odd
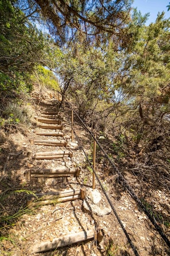
[(58, 158), (64, 158), (64, 157), (73, 157), (73, 152), (70, 150), (58, 150), (58, 151), (52, 151), (52, 152), (37, 152), (34, 154), (33, 158), (37, 160), (43, 160), (43, 159), (58, 159)]

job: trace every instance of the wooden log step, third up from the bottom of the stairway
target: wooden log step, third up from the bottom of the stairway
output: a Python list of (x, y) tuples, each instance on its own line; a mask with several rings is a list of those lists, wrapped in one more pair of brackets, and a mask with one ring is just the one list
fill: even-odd
[(26, 180), (33, 178), (56, 178), (56, 177), (69, 177), (74, 175), (78, 177), (81, 168), (68, 168), (66, 166), (58, 166), (56, 169), (29, 169), (25, 173)]

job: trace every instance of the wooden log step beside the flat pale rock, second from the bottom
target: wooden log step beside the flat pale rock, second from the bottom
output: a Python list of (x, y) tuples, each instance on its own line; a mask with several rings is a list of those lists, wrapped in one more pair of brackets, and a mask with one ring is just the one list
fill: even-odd
[(68, 191), (58, 191), (49, 193), (36, 193), (27, 196), (27, 207), (38, 207), (46, 204), (57, 204), (65, 201), (73, 201), (77, 199), (85, 199), (86, 190), (69, 189)]

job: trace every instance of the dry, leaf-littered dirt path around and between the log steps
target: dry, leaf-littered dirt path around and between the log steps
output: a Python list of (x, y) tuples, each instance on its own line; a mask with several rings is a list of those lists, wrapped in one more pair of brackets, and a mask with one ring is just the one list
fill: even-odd
[[(64, 126), (62, 130), (42, 129), (37, 122), (27, 134), (11, 134), (8, 141), (3, 145), (1, 160), (2, 169), (6, 162), (6, 156), (10, 155), (6, 165), (6, 176), (1, 181), (1, 214), (3, 216), (1, 236), (2, 239), (1, 255), (135, 255), (127, 238), (118, 223), (116, 216), (111, 212), (108, 215), (98, 216), (92, 211), (85, 211), (83, 200), (71, 200), (64, 203), (42, 205), (41, 207), (26, 207), (28, 194), (33, 193), (55, 193), (57, 191), (70, 189), (86, 189), (89, 198), (89, 191), (92, 187), (92, 173), (88, 169), (85, 156), (77, 142), (70, 141), (71, 128), (65, 113), (60, 110), (57, 115), (47, 115), (46, 111), (56, 111), (56, 105), (50, 102), (35, 105), (34, 111), (38, 118), (61, 120)], [(43, 123), (43, 125), (47, 125)], [(55, 124), (56, 125), (56, 124)], [(60, 125), (57, 124), (59, 127)], [(85, 146), (86, 153), (90, 153), (90, 138), (88, 134), (75, 123), (77, 134)], [(63, 133), (63, 136), (37, 135), (42, 132)], [(61, 134), (60, 134), (61, 135)], [(65, 141), (67, 145), (47, 146), (35, 145), (36, 140)], [(40, 152), (69, 152), (73, 153), (70, 157), (64, 156), (53, 159), (36, 159)], [(22, 152), (18, 154), (18, 152)], [(57, 169), (57, 168), (81, 168), (80, 176), (68, 177), (33, 177), (27, 179), (29, 170)], [(121, 191), (118, 195), (116, 181), (106, 183), (104, 169), (97, 170), (102, 184), (108, 193), (112, 204), (116, 208), (117, 214), (121, 219), (126, 232), (137, 253), (141, 256), (147, 255), (169, 255), (169, 250), (165, 246), (160, 235), (155, 231), (151, 222), (143, 212), (137, 207), (135, 201), (126, 191)], [(98, 207), (106, 208), (109, 204), (100, 185), (96, 183), (96, 188), (101, 193), (101, 201)], [(86, 200), (86, 199), (85, 199)], [(7, 216), (12, 216), (10, 219)], [(100, 215), (100, 214), (99, 214)], [(97, 244), (96, 239), (88, 242), (76, 243), (76, 245), (66, 246), (53, 251), (44, 253), (31, 253), (30, 248), (39, 242), (53, 241), (64, 235), (78, 233), (80, 231), (94, 229), (104, 230), (102, 243)]]

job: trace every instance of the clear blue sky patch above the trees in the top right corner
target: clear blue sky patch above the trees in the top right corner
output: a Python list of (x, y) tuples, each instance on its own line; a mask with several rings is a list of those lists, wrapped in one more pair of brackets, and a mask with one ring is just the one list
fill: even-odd
[(137, 10), (140, 10), (142, 14), (150, 13), (150, 16), (147, 21), (147, 25), (151, 22), (155, 22), (157, 13), (165, 11), (165, 18), (170, 17), (170, 10), (166, 7), (169, 4), (170, 0), (134, 0), (133, 7), (137, 7)]

